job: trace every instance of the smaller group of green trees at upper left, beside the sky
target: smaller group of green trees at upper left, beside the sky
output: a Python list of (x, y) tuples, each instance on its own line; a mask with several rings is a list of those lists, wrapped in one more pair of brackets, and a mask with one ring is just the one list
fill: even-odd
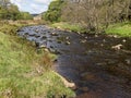
[(0, 20), (32, 20), (28, 12), (21, 12), (10, 0), (0, 0)]

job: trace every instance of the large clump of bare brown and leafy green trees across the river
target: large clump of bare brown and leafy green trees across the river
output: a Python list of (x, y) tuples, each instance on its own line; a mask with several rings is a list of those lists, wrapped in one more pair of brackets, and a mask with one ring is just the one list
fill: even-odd
[(45, 19), (102, 30), (109, 24), (131, 21), (131, 0), (56, 0), (50, 3)]

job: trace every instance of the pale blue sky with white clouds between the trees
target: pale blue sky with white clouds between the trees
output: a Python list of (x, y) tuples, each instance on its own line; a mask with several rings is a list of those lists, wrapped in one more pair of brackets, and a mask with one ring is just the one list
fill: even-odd
[(49, 3), (52, 0), (11, 0), (16, 4), (20, 11), (29, 12), (32, 14), (47, 11)]

